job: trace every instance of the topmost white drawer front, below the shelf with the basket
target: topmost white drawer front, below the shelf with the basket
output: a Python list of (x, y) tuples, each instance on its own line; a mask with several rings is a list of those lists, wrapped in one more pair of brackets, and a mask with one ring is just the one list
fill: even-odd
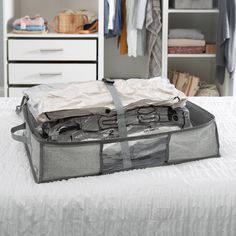
[(8, 40), (10, 61), (96, 61), (97, 43), (91, 40)]

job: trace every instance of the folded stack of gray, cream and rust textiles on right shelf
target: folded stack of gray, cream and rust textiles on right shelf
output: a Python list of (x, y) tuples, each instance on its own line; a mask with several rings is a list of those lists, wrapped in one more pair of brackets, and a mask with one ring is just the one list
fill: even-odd
[(199, 30), (171, 29), (168, 37), (170, 54), (199, 54), (206, 51), (205, 37)]

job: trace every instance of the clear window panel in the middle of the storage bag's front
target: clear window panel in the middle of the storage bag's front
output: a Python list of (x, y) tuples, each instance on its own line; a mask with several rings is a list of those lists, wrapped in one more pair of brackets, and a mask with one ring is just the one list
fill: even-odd
[[(167, 157), (168, 136), (130, 141), (132, 169), (162, 165)], [(120, 143), (105, 144), (102, 152), (102, 173), (122, 171), (123, 160)]]

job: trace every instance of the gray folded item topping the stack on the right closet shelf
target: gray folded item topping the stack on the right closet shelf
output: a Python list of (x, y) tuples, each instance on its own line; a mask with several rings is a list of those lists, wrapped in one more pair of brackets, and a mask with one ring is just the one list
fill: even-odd
[(168, 37), (169, 39), (205, 39), (205, 36), (197, 29), (171, 29)]

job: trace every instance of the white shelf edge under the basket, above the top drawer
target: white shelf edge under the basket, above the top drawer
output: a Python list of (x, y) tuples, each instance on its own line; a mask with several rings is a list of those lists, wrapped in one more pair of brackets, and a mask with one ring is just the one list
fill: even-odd
[(47, 33), (47, 34), (14, 34), (8, 33), (8, 38), (98, 38), (98, 33), (94, 34), (58, 34), (58, 33)]

